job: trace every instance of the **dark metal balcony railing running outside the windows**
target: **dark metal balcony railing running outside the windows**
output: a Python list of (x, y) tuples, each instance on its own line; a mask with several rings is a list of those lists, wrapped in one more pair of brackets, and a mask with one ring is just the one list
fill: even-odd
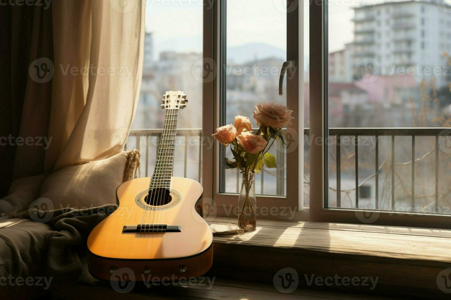
[[(330, 128), (329, 136), (332, 138), (332, 143), (330, 144), (329, 150), (329, 169), (333, 167), (335, 172), (331, 170), (331, 174), (329, 174), (329, 197), (336, 195), (336, 207), (359, 207), (359, 201), (362, 200), (362, 197), (359, 197), (359, 192), (362, 187), (368, 184), (369, 180), (373, 180), (375, 192), (375, 209), (389, 209), (395, 210), (395, 203), (398, 201), (395, 193), (395, 188), (400, 188), (404, 190), (404, 198), (410, 197), (410, 202), (412, 207), (415, 206), (417, 199), (433, 199), (432, 205), (435, 207), (439, 206), (439, 200), (441, 197), (445, 197), (448, 192), (443, 192), (442, 196), (439, 194), (439, 153), (444, 152), (448, 157), (451, 155), (451, 148), (449, 148), (449, 152), (446, 151), (448, 148), (439, 147), (439, 145), (443, 145), (443, 140), (440, 140), (442, 136), (448, 136), (450, 132), (444, 131), (444, 128)], [(150, 176), (153, 171), (154, 161), (155, 161), (155, 153), (156, 149), (159, 145), (159, 137), (161, 135), (161, 129), (142, 129), (142, 130), (132, 130), (130, 133), (130, 137), (128, 139), (127, 148), (137, 148), (141, 152), (141, 170), (139, 172), (139, 176)], [(304, 137), (306, 143), (304, 144), (304, 157), (305, 162), (308, 164), (309, 157), (309, 129), (304, 129)], [(342, 143), (347, 137), (351, 141), (354, 140), (354, 145), (349, 147)], [(368, 151), (365, 153), (365, 148), (363, 148), (362, 144), (359, 143), (359, 139), (362, 137), (372, 138), (374, 143), (374, 152), (373, 155), (373, 167), (369, 166), (368, 163)], [(401, 143), (396, 142), (396, 139), (402, 139), (402, 137), (410, 137), (410, 141), (406, 142), (405, 140)], [(426, 145), (424, 139), (429, 137), (429, 143), (433, 141), (433, 146)], [(404, 138), (404, 139), (405, 139)], [(381, 141), (383, 140), (384, 146), (381, 147)], [(176, 141), (176, 154), (175, 154), (175, 176), (183, 176), (189, 177), (201, 182), (202, 180), (202, 143), (209, 143), (206, 139), (202, 138), (202, 130), (201, 129), (179, 129), (177, 130), (177, 140)], [(139, 141), (139, 142), (138, 142)], [(315, 139), (312, 139), (312, 142), (315, 142)], [(445, 140), (446, 142), (446, 140)], [(336, 145), (340, 145), (336, 147)], [(448, 145), (446, 145), (448, 146)], [(177, 150), (177, 148), (179, 150)], [(353, 152), (350, 155), (348, 152)], [(383, 152), (383, 155), (381, 154)], [(396, 153), (407, 153), (409, 152), (410, 158), (403, 162), (395, 161)], [(152, 154), (150, 154), (152, 153)], [(419, 153), (418, 157), (415, 153)], [(345, 155), (342, 155), (345, 154)], [(384, 159), (383, 158), (385, 155)], [(364, 158), (360, 158), (360, 157)], [(353, 158), (353, 162), (350, 164), (350, 157)], [(429, 157), (434, 157), (433, 162), (430, 161)], [(285, 161), (285, 153), (283, 151), (276, 151), (276, 160), (278, 162), (278, 166), (283, 166)], [(429, 161), (426, 161), (428, 160)], [(153, 161), (153, 162), (152, 162)], [(416, 193), (415, 187), (417, 186), (417, 179), (415, 175), (421, 171), (420, 169), (416, 170), (415, 166), (419, 164), (421, 170), (432, 170), (433, 172), (433, 190), (429, 194), (421, 194)], [(354, 165), (354, 166), (352, 166)], [(409, 176), (403, 176), (404, 178), (400, 178), (400, 175), (397, 174), (396, 168), (408, 168), (410, 165), (410, 178)], [(426, 169), (425, 169), (426, 168)], [(196, 170), (194, 170), (196, 169)], [(282, 169), (282, 170), (280, 170)], [(339, 170), (338, 172), (336, 170)], [(346, 170), (346, 171), (345, 171)], [(350, 176), (350, 171), (354, 172), (353, 176)], [(359, 177), (359, 171), (365, 173), (362, 178), (362, 174)], [(382, 207), (381, 205), (381, 196), (380, 196), (380, 188), (381, 183), (379, 182), (380, 175), (386, 172), (388, 177), (384, 179), (383, 184), (390, 186), (389, 191), (387, 191), (382, 196), (385, 201), (389, 201), (388, 206), (385, 205)], [(343, 173), (347, 173), (347, 178), (344, 179)], [(261, 172), (260, 179), (261, 180), (261, 189), (257, 191), (258, 193), (263, 194), (263, 187), (265, 186), (265, 181), (268, 178), (270, 180), (276, 180), (276, 194), (283, 195), (284, 194), (284, 184), (285, 184), (285, 174), (283, 168), (278, 168), (273, 171), (272, 169), (267, 170), (263, 169)], [(422, 174), (424, 175), (424, 174)], [(269, 176), (269, 177), (268, 177)], [(354, 187), (344, 188), (344, 185), (350, 182), (350, 177), (353, 177)], [(402, 177), (402, 175), (401, 175)], [(308, 188), (309, 188), (309, 168), (305, 168), (304, 172), (304, 184), (307, 191), (305, 195), (308, 198)], [(387, 178), (389, 178), (387, 180)], [(225, 179), (223, 179), (225, 180)], [(240, 174), (239, 171), (236, 171), (236, 193), (239, 193), (239, 180)], [(344, 184), (344, 181), (345, 183)], [(410, 182), (410, 184), (403, 184), (404, 181)], [(420, 179), (421, 180), (421, 179)], [(418, 184), (419, 181), (418, 180)], [(335, 183), (334, 183), (335, 181)], [(395, 184), (396, 181), (396, 184)], [(423, 180), (424, 182), (424, 180)], [(332, 184), (334, 183), (334, 184)], [(410, 185), (410, 187), (408, 187)], [(423, 192), (425, 188), (423, 187)], [(451, 192), (450, 192), (451, 193)], [(352, 201), (352, 205), (343, 203), (343, 195), (350, 199), (350, 195), (353, 195), (354, 201)], [(405, 199), (404, 199), (405, 200)], [(308, 204), (308, 201), (307, 203)], [(333, 205), (335, 206), (335, 205)]]

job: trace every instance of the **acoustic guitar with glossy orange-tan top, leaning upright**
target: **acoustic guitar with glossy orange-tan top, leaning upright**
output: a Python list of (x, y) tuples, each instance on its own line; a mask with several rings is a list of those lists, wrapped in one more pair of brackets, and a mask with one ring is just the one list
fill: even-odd
[(159, 281), (198, 277), (212, 266), (212, 231), (194, 208), (202, 185), (172, 177), (178, 112), (187, 101), (183, 92), (166, 92), (161, 104), (166, 119), (152, 178), (121, 184), (118, 209), (89, 234), (88, 268), (94, 277), (123, 280), (127, 273), (131, 281)]

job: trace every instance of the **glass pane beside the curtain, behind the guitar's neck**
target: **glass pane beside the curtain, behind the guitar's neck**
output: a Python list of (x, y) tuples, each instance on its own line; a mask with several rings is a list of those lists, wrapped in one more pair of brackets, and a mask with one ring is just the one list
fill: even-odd
[(151, 176), (155, 166), (163, 94), (181, 90), (189, 102), (179, 111), (174, 176), (201, 181), (202, 80), (193, 66), (202, 59), (202, 12), (202, 1), (146, 1), (143, 82), (132, 126), (145, 130), (132, 131), (127, 145), (141, 152), (141, 176)]

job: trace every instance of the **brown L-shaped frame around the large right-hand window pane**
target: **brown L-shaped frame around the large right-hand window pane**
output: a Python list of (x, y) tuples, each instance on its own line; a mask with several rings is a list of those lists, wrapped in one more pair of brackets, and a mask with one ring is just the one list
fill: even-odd
[[(324, 141), (328, 137), (328, 46), (327, 0), (310, 4), (310, 134)], [(309, 220), (405, 227), (451, 228), (451, 216), (433, 213), (363, 210), (325, 207), (328, 192), (328, 154), (324, 143), (310, 145)], [(372, 216), (375, 219), (372, 219)]]

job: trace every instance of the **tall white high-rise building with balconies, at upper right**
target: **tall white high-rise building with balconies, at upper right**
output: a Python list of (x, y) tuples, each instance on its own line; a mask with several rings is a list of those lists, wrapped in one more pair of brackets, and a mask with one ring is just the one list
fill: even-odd
[(451, 52), (451, 10), (442, 0), (385, 2), (354, 10), (351, 66), (372, 59), (382, 76), (435, 77), (437, 86), (448, 84), (451, 72), (442, 54)]

